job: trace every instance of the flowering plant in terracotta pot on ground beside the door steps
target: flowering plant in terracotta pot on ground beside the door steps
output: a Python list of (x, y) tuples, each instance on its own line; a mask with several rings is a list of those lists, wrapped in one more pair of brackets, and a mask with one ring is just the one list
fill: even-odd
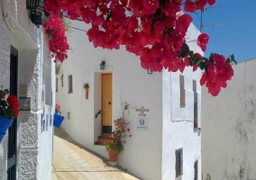
[(110, 161), (117, 161), (118, 154), (124, 150), (125, 139), (132, 136), (130, 129), (127, 128), (129, 123), (124, 118), (114, 120), (115, 130), (112, 132), (112, 142), (105, 143), (105, 150), (108, 151)]

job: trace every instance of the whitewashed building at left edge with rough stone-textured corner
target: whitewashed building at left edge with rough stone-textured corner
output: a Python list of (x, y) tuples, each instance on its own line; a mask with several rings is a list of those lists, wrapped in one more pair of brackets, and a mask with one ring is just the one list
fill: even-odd
[(26, 0), (0, 1), (0, 54), (0, 85), (20, 100), (19, 117), (0, 142), (0, 179), (49, 180), (55, 70), (48, 40), (31, 22)]

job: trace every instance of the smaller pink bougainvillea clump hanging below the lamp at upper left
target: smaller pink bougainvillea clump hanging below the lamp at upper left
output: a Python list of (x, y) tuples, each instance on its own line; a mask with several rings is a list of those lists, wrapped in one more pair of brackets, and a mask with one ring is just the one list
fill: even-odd
[(63, 19), (59, 17), (48, 17), (43, 23), (45, 33), (49, 37), (49, 49), (54, 62), (63, 62), (68, 58), (69, 44), (65, 34)]

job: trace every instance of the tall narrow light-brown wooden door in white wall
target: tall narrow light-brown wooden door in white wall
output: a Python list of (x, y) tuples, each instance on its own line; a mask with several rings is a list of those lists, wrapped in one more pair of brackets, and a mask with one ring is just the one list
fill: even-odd
[(103, 74), (102, 81), (102, 132), (112, 131), (112, 74)]

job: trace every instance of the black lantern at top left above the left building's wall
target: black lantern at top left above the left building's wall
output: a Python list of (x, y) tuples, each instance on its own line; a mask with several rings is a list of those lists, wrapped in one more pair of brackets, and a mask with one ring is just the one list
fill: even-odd
[(27, 0), (27, 9), (32, 23), (38, 28), (41, 25), (41, 14), (44, 12), (44, 0)]

